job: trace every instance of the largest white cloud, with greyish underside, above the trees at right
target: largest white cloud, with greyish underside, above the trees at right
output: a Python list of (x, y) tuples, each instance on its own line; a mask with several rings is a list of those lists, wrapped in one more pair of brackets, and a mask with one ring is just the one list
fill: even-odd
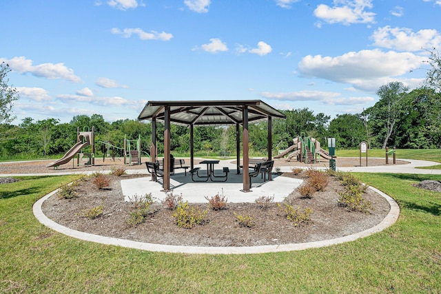
[(410, 52), (382, 52), (381, 50), (362, 50), (348, 52), (341, 56), (305, 56), (298, 64), (302, 76), (325, 78), (338, 83), (349, 83), (362, 90), (378, 90), (380, 85), (392, 77), (407, 74), (419, 68), (424, 61), (422, 56)]

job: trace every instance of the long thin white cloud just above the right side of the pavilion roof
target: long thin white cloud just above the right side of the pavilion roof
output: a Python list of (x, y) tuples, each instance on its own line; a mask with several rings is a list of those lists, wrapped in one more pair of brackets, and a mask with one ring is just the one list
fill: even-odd
[(324, 105), (360, 105), (371, 103), (375, 98), (370, 96), (364, 97), (341, 97), (338, 92), (323, 92), (323, 91), (298, 91), (298, 92), (261, 92), (260, 96), (269, 100), (276, 101), (316, 101)]

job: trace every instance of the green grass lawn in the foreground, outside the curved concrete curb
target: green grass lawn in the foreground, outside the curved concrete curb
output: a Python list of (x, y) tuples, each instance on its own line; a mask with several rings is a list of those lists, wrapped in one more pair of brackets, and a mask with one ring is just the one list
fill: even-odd
[[(32, 204), (74, 176), (0, 185), (0, 293), (440, 293), (440, 176), (360, 174), (395, 198), (396, 224), (321, 249), (260, 255), (154, 253), (54, 232)], [(314, 214), (312, 216), (314, 218)]]

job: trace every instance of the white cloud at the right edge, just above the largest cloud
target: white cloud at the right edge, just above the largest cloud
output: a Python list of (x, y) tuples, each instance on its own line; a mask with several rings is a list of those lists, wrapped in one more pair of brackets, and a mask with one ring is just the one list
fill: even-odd
[(441, 34), (434, 29), (413, 32), (409, 28), (391, 28), (389, 25), (373, 32), (373, 45), (406, 51), (420, 51), (422, 48), (439, 48)]

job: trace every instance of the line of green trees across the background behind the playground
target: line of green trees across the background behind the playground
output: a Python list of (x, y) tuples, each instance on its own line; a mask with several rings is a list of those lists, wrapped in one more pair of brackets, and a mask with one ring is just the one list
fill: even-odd
[[(327, 138), (336, 138), (340, 149), (358, 148), (366, 141), (370, 148), (426, 149), (441, 147), (441, 59), (438, 51), (429, 50), (429, 70), (424, 85), (415, 90), (394, 81), (382, 85), (378, 102), (360, 114), (340, 114), (331, 119), (324, 113), (311, 109), (280, 110), (286, 119), (273, 121), (273, 154), (292, 145), (300, 134), (316, 138), (327, 146)], [(109, 150), (102, 142), (119, 147), (116, 156), (122, 156), (124, 138), (141, 138), (141, 149), (150, 153), (152, 129), (149, 122), (116, 120), (106, 122), (101, 114), (74, 116), (70, 123), (60, 123), (54, 118), (33, 120), (24, 118), (12, 125), (12, 103), (18, 94), (8, 86), (8, 65), (0, 67), (0, 159), (44, 158), (64, 154), (76, 143), (76, 129), (94, 127), (96, 155)], [(158, 153), (163, 151), (163, 125), (157, 124)], [(241, 134), (240, 134), (241, 138)], [(171, 151), (189, 154), (189, 128), (171, 126)], [(101, 148), (102, 147), (102, 148)], [(194, 150), (196, 155), (233, 156), (236, 154), (236, 127), (195, 127)], [(249, 150), (251, 154), (266, 155), (267, 123), (249, 125)]]

